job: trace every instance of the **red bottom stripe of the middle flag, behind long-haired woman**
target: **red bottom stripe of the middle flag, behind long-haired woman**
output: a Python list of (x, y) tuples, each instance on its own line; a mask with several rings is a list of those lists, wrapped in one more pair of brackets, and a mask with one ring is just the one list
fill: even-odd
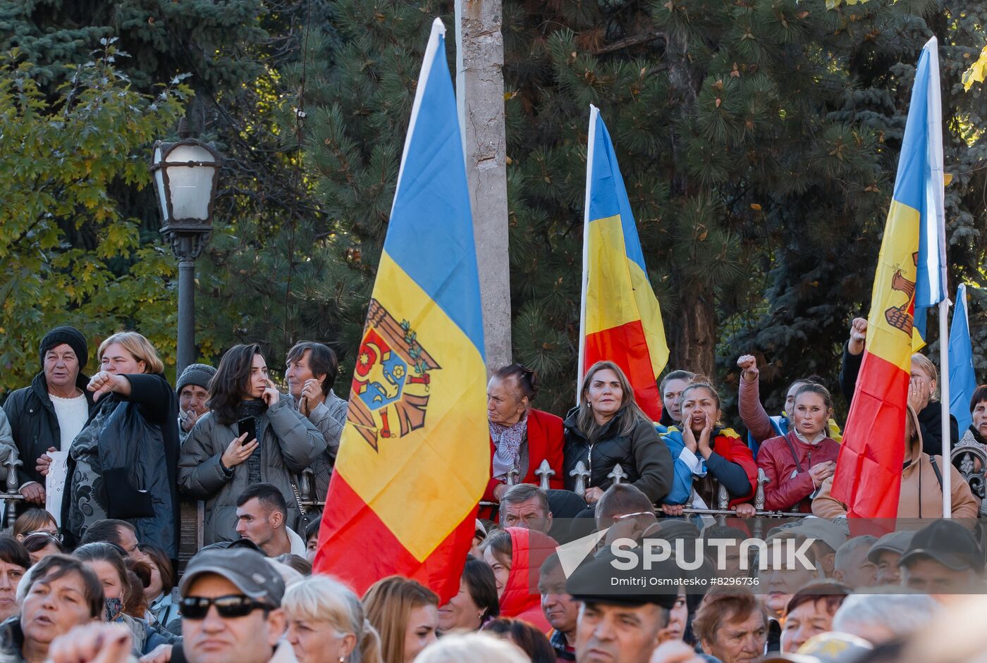
[(647, 348), (645, 328), (640, 320), (586, 334), (583, 346), (585, 372), (597, 361), (612, 361), (621, 367), (634, 388), (638, 405), (651, 420), (661, 418), (661, 395), (655, 383), (654, 368)]

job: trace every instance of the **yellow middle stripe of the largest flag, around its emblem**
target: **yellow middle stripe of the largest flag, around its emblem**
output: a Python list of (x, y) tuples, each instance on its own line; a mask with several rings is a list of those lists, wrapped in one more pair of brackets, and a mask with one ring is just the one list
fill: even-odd
[[(374, 298), (397, 323), (407, 321), (438, 368), (427, 371), (427, 388), (417, 386), (427, 403), (412, 414), (423, 415), (423, 425), (400, 437), (378, 437), (377, 450), (360, 434), (352, 411), (359, 396), (351, 395), (337, 472), (420, 561), (483, 496), (490, 458), (469, 451), (479, 448), (478, 440), (485, 449), (488, 444), (485, 410), (472, 406), (486, 399), (486, 369), (473, 342), (386, 253), (381, 255)], [(442, 368), (471, 364), (477, 370)], [(393, 406), (386, 410), (388, 425), (396, 431), (401, 413)], [(379, 413), (369, 425), (381, 425)]]

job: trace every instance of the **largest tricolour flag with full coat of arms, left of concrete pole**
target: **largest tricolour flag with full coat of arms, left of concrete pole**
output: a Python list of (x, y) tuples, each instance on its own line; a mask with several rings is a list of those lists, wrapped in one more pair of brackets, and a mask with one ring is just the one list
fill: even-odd
[(445, 29), (432, 24), (356, 356), (315, 570), (392, 574), (442, 602), (490, 471), (480, 278)]

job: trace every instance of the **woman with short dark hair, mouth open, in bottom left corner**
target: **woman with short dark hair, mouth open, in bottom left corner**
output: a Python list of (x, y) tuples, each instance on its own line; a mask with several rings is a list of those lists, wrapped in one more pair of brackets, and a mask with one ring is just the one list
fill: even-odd
[(19, 594), (24, 596), (20, 617), (0, 625), (0, 654), (7, 661), (45, 661), (52, 640), (103, 615), (99, 578), (81, 561), (63, 554), (39, 561)]

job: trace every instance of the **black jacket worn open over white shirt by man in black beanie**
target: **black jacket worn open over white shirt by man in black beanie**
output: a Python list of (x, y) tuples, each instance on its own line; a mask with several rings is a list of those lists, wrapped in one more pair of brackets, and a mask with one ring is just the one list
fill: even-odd
[[(86, 391), (89, 378), (79, 374), (75, 386), (82, 390), (89, 403), (89, 412), (93, 412), (93, 395)], [(19, 389), (7, 398), (3, 405), (10, 426), (14, 432), (14, 444), (24, 465), (18, 468), (19, 485), (28, 481), (38, 481), (44, 485), (44, 478), (35, 470), (35, 461), (50, 447), (61, 448), (61, 428), (55, 415), (55, 406), (51, 405), (48, 396), (48, 383), (44, 380), (44, 372), (38, 373), (31, 381), (30, 387)]]

